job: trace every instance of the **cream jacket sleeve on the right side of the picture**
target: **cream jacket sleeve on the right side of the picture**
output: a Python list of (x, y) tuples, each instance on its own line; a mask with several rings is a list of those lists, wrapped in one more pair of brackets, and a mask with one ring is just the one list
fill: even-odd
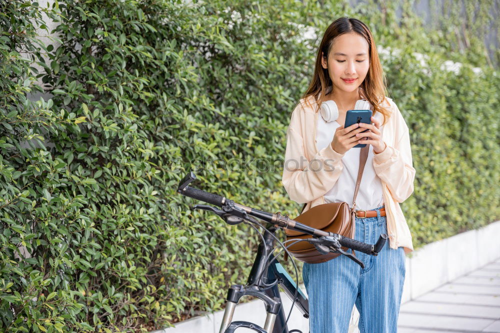
[(408, 127), (400, 117), (403, 133), (396, 141), (396, 147), (386, 145), (385, 149), (375, 153), (373, 168), (397, 202), (403, 202), (413, 192), (415, 169), (411, 158)]

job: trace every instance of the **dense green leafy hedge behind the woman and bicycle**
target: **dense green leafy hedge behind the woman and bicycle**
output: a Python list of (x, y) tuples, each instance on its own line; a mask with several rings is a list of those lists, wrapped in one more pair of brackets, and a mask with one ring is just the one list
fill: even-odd
[[(410, 128), (417, 172), (402, 207), (414, 245), (498, 219), (496, 68), (478, 43), (463, 52), (429, 37), (410, 5), (398, 21), (394, 7), (348, 1), (5, 4), (0, 329), (147, 330), (220, 309), (257, 236), (192, 211), (176, 185), (194, 167), (195, 186), (297, 214), (279, 159), (318, 43), (304, 26), (321, 37), (340, 15), (401, 50), (381, 59)], [(42, 13), (60, 42), (41, 42)], [(458, 74), (441, 69), (447, 59), (463, 62)]]

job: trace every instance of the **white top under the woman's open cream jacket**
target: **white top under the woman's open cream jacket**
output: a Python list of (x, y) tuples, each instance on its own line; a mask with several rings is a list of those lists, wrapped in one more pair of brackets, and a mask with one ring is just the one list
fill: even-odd
[[(333, 134), (340, 124), (334, 120), (326, 122), (319, 112), (317, 113), (317, 127), (316, 127), (316, 148), (321, 150), (331, 143)], [(383, 115), (376, 112), (375, 119), (383, 121)], [(380, 127), (383, 131), (383, 125)], [(368, 143), (366, 143), (368, 144)], [(368, 158), (364, 166), (361, 183), (356, 196), (356, 210), (365, 209), (371, 210), (378, 208), (383, 204), (382, 196), (382, 182), (376, 175), (373, 168), (373, 146), (369, 145)], [(357, 172), (359, 170), (359, 152), (361, 148), (350, 148), (342, 156), (342, 173), (340, 174), (337, 182), (333, 187), (326, 192), (324, 199), (326, 203), (329, 202), (342, 202), (345, 201), (352, 208), (352, 198), (354, 196), (354, 189), (356, 188)]]

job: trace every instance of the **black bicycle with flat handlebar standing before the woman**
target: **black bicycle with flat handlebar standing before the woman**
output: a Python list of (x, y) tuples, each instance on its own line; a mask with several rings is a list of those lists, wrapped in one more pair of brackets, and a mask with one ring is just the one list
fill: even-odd
[[(219, 206), (222, 209), (204, 204), (196, 204), (194, 206), (194, 209), (204, 209), (211, 211), (220, 216), (226, 223), (230, 225), (236, 225), (239, 223), (248, 224), (253, 227), (261, 237), (261, 242), (257, 247), (257, 254), (255, 256), (255, 260), (253, 262), (246, 284), (233, 284), (227, 291), (226, 307), (224, 310), (224, 315), (222, 317), (222, 322), (220, 324), (219, 333), (233, 333), (235, 329), (240, 327), (245, 327), (258, 333), (302, 333), (298, 329), (288, 330), (287, 322), (294, 305), (298, 307), (305, 318), (308, 318), (309, 303), (307, 297), (277, 260), (277, 256), (281, 254), (283, 250), (286, 252), (288, 252), (288, 250), (284, 245), (286, 241), (281, 242), (275, 236), (276, 230), (289, 228), (292, 230), (310, 234), (313, 236), (313, 238), (293, 240), (292, 244), (298, 241), (308, 241), (312, 243), (321, 253), (326, 254), (330, 251), (340, 252), (342, 255), (346, 255), (351, 260), (355, 261), (362, 268), (364, 268), (364, 264), (357, 257), (355, 257), (352, 253), (345, 252), (340, 247), (344, 246), (353, 250), (376, 256), (378, 252), (383, 248), (383, 245), (385, 244), (385, 241), (387, 239), (387, 235), (382, 233), (380, 234), (377, 242), (373, 245), (360, 242), (355, 239), (339, 235), (337, 233), (325, 232), (320, 229), (315, 229), (305, 224), (299, 223), (289, 218), (287, 215), (281, 215), (279, 212), (269, 213), (251, 208), (236, 203), (233, 200), (227, 199), (226, 197), (189, 186), (189, 183), (191, 183), (195, 179), (196, 176), (192, 171), (189, 170), (189, 173), (187, 173), (184, 178), (180, 180), (177, 192), (185, 196), (189, 196), (194, 199)], [(264, 226), (260, 224), (252, 216), (267, 222), (266, 225)], [(262, 234), (257, 227), (262, 228), (264, 233)], [(275, 250), (275, 241), (279, 243), (279, 245), (282, 247), (282, 250), (277, 254), (272, 255)], [(289, 252), (288, 254), (291, 257)], [(296, 280), (298, 280), (297, 266), (293, 260), (292, 263), (295, 270)], [(281, 286), (285, 294), (288, 295), (292, 300), (290, 312), (288, 313), (286, 319), (284, 309), (281, 306), (281, 297), (279, 294), (278, 285)], [(248, 321), (232, 321), (234, 309), (240, 298), (245, 295), (257, 297), (264, 301), (264, 303), (266, 304), (266, 318), (263, 327)]]

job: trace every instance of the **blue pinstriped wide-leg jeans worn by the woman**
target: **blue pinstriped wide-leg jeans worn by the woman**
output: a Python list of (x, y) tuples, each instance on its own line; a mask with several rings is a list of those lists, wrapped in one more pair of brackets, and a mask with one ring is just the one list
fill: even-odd
[[(382, 207), (373, 209), (377, 216), (356, 217), (355, 239), (374, 244), (380, 233), (387, 233)], [(405, 274), (403, 247), (389, 248), (387, 240), (377, 256), (359, 251), (355, 255), (364, 263), (363, 269), (344, 255), (303, 264), (310, 333), (346, 333), (354, 304), (361, 333), (396, 332)]]

